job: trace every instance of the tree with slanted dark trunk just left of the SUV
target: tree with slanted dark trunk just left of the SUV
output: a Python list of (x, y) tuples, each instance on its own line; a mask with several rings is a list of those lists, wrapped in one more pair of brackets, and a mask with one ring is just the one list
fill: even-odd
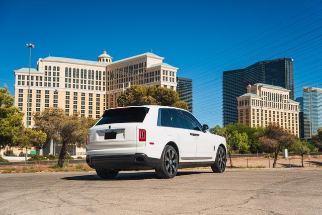
[(48, 132), (47, 135), (50, 138), (62, 145), (58, 160), (59, 167), (64, 164), (68, 153), (67, 146), (84, 147), (86, 133), (96, 122), (92, 118), (79, 117), (78, 114), (66, 116), (62, 109), (54, 107), (47, 108), (34, 116), (36, 129)]

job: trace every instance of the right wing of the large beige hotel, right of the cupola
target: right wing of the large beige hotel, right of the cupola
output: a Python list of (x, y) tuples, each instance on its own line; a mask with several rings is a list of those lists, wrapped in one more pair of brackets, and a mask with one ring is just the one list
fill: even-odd
[(177, 67), (163, 62), (164, 57), (144, 53), (109, 63), (106, 66), (107, 108), (117, 107), (117, 97), (131, 85), (177, 89)]

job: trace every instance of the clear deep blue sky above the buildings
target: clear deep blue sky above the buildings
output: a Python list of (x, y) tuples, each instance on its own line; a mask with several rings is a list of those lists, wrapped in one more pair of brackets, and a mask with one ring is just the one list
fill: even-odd
[(322, 86), (317, 3), (1, 1), (0, 86), (14, 92), (13, 70), (28, 67), (26, 43), (36, 46), (32, 67), (49, 55), (96, 60), (106, 49), (117, 60), (153, 49), (179, 67), (178, 76), (194, 80), (194, 114), (210, 127), (221, 125), (223, 70), (293, 57), (295, 97), (304, 85)]

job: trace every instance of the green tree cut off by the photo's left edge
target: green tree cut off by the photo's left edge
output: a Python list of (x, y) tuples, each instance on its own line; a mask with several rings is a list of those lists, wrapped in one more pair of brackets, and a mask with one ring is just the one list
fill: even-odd
[(13, 106), (14, 98), (8, 87), (0, 88), (0, 149), (6, 146), (14, 147), (15, 138), (19, 136), (24, 114)]

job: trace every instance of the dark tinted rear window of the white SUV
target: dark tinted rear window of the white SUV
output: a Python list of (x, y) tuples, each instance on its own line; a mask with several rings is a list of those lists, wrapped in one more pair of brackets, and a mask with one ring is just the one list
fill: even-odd
[(96, 125), (143, 122), (148, 110), (149, 108), (146, 107), (116, 108), (106, 110)]

